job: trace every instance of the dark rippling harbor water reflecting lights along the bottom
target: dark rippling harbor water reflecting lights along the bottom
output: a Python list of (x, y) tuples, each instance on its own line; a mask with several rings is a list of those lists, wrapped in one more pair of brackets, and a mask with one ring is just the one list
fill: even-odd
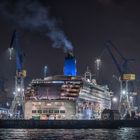
[(140, 140), (140, 128), (0, 129), (0, 140)]

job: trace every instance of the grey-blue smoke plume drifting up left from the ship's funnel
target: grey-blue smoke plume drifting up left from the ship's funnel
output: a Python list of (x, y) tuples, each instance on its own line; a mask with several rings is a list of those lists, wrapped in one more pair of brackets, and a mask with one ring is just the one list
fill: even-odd
[(0, 11), (22, 28), (43, 31), (53, 41), (54, 48), (72, 51), (71, 42), (59, 28), (56, 19), (49, 16), (48, 8), (39, 0), (14, 0), (0, 2)]

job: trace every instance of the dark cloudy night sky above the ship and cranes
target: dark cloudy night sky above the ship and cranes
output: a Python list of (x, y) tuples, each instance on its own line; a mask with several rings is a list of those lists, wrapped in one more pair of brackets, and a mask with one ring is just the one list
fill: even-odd
[[(107, 40), (126, 58), (135, 59), (130, 69), (139, 81), (139, 7), (139, 0), (0, 1), (0, 77), (7, 81), (14, 79), (15, 62), (14, 58), (8, 60), (7, 49), (16, 29), (25, 53), (27, 82), (43, 77), (44, 65), (48, 65), (49, 75), (63, 74), (67, 47), (73, 47), (78, 75), (83, 75), (87, 66), (96, 74), (94, 61)], [(118, 71), (107, 51), (101, 59), (98, 82), (109, 84), (112, 90), (119, 89), (118, 82), (112, 78), (113, 74), (118, 76)]]

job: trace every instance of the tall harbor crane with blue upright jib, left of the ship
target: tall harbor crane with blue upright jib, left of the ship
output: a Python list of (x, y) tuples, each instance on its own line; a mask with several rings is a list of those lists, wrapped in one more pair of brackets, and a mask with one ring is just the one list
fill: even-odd
[(13, 117), (22, 118), (24, 115), (24, 78), (26, 77), (26, 70), (23, 69), (23, 53), (18, 45), (17, 31), (13, 32), (10, 48), (15, 51), (16, 75), (14, 99), (9, 112)]

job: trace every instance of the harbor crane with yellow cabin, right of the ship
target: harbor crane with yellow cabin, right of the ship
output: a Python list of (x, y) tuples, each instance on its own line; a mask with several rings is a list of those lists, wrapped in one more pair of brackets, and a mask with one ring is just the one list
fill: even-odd
[[(110, 54), (118, 72), (119, 72), (119, 82), (120, 82), (120, 97), (119, 97), (119, 112), (122, 118), (125, 118), (126, 115), (130, 115), (133, 111), (135, 111), (133, 106), (132, 100), (132, 90), (129, 88), (129, 83), (135, 80), (135, 74), (131, 73), (128, 69), (128, 65), (130, 62), (133, 62), (134, 59), (127, 59), (125, 58), (118, 48), (111, 42), (107, 41), (105, 43), (105, 49), (107, 49), (108, 53)], [(114, 56), (112, 51), (114, 50), (116, 54), (121, 58), (122, 63), (120, 64), (116, 57)]]

